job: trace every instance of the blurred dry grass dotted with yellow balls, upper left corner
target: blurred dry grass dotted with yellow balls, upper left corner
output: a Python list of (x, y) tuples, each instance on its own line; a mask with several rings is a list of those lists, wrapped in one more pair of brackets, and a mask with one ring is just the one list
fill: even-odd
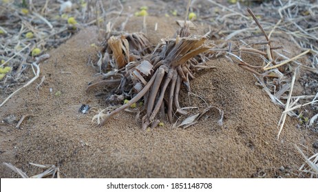
[[(32, 50), (35, 48), (43, 54), (87, 25), (96, 24), (101, 31), (112, 30), (113, 22), (123, 10), (120, 1), (73, 1), (72, 8), (64, 10), (62, 4), (45, 0), (1, 3), (1, 67), (12, 68), (1, 80), (2, 88), (26, 78), (34, 62)], [(75, 23), (68, 21), (70, 18), (74, 18)]]

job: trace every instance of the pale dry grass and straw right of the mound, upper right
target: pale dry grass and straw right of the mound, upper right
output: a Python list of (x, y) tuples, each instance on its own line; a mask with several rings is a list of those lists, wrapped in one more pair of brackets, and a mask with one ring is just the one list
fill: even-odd
[[(239, 12), (245, 12), (244, 5), (240, 3), (224, 7), (224, 5), (216, 3), (215, 1), (209, 0), (209, 2), (222, 9), (221, 11), (218, 10), (218, 12), (220, 12), (218, 13), (219, 16), (213, 19), (213, 22), (208, 22), (215, 26), (216, 29), (220, 29), (218, 26), (222, 26), (221, 30), (216, 30), (212, 33), (213, 36), (224, 40), (239, 40), (243, 43), (242, 45), (236, 45), (237, 48), (233, 46), (235, 44), (225, 48), (227, 49), (224, 50), (226, 54), (235, 58), (235, 60), (239, 60), (241, 64), (243, 61), (241, 56), (244, 53), (258, 54), (259, 57), (264, 60), (262, 66), (264, 70), (263, 73), (255, 71), (251, 66), (247, 66), (246, 64), (242, 67), (258, 76), (259, 84), (261, 84), (264, 91), (268, 93), (275, 104), (288, 108), (289, 103), (293, 103), (293, 108), (291, 108), (291, 110), (286, 109), (283, 112), (283, 116), (287, 113), (290, 116), (299, 117), (293, 110), (304, 108), (304, 106), (308, 104), (317, 106), (317, 104), (315, 104), (316, 100), (310, 100), (309, 95), (293, 97), (293, 95), (289, 94), (289, 97), (285, 96), (288, 92), (291, 93), (291, 89), (293, 88), (293, 86), (290, 86), (292, 80), (289, 74), (293, 73), (297, 67), (301, 70), (298, 76), (304, 73), (317, 74), (318, 72), (318, 28), (315, 19), (318, 14), (317, 6), (312, 6), (312, 3), (309, 1), (271, 1), (253, 8), (255, 14), (249, 10), (251, 17), (246, 17), (245, 15), (242, 16), (242, 14), (239, 14)], [(251, 22), (253, 21), (252, 19), (255, 23)], [(255, 24), (257, 27), (255, 27)], [(244, 27), (242, 28), (242, 26)], [(259, 32), (262, 32), (265, 36), (264, 43), (248, 40), (259, 34)], [(269, 35), (267, 35), (267, 33)], [(285, 55), (284, 45), (281, 47), (282, 51), (271, 49), (270, 38), (282, 34), (288, 36), (288, 38), (295, 43), (295, 46), (299, 47), (299, 54), (289, 58)], [(255, 49), (255, 45), (261, 46)], [(219, 49), (219, 51), (220, 50), (221, 49)], [(233, 52), (237, 52), (238, 54), (234, 56)], [(299, 59), (302, 59), (302, 62), (299, 62)], [(287, 65), (287, 67), (284, 67), (284, 65)], [(268, 74), (275, 74), (277, 77), (263, 80), (262, 77)], [(297, 80), (299, 80), (299, 77), (297, 77)], [(279, 82), (279, 84), (275, 82)], [(313, 94), (317, 95), (317, 93)], [(317, 110), (310, 113), (310, 115), (315, 114), (317, 114)], [(282, 125), (284, 125), (284, 123), (282, 123)], [(306, 126), (308, 125), (309, 124), (306, 123)], [(279, 134), (281, 131), (282, 126), (279, 129)]]

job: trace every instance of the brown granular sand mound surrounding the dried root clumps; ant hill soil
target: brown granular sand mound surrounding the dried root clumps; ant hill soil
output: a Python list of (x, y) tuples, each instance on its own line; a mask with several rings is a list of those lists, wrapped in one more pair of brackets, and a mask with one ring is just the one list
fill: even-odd
[[(140, 22), (141, 21), (141, 22)], [(150, 23), (158, 22), (158, 31)], [(153, 45), (173, 36), (178, 28), (171, 19), (149, 16), (147, 34)], [(135, 25), (135, 24), (136, 25)], [(139, 24), (138, 24), (139, 23)], [(140, 24), (141, 23), (141, 24)], [(127, 32), (142, 29), (142, 19), (131, 19)], [(193, 32), (195, 33), (195, 32)], [(63, 178), (251, 178), (298, 177), (304, 163), (294, 144), (312, 146), (312, 132), (296, 128), (287, 118), (277, 140), (277, 122), (282, 108), (271, 102), (255, 77), (226, 58), (211, 60), (216, 67), (195, 73), (188, 95), (180, 93), (181, 106), (216, 105), (224, 111), (218, 125), (218, 111), (189, 128), (162, 127), (142, 130), (134, 113), (121, 112), (103, 127), (92, 117), (106, 105), (103, 95), (86, 93), (94, 80), (98, 60), (97, 27), (88, 27), (67, 43), (50, 51), (41, 63), (36, 83), (24, 88), (0, 108), (1, 117), (33, 115), (16, 123), (2, 123), (0, 161), (10, 162), (29, 176), (41, 169), (29, 165), (56, 165)], [(92, 61), (92, 62), (91, 62)], [(250, 64), (258, 58), (246, 57)], [(36, 89), (41, 77), (45, 81)], [(3, 99), (5, 97), (3, 96)], [(82, 104), (91, 106), (85, 115)], [(1, 178), (19, 177), (1, 165)]]

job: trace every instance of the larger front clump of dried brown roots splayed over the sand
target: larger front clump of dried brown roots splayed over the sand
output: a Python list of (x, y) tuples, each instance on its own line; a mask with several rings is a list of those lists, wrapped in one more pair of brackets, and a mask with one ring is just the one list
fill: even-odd
[[(187, 32), (189, 28), (182, 28), (183, 29), (180, 30), (181, 35), (189, 34), (189, 32)], [(143, 36), (143, 38), (145, 38), (145, 36)], [(120, 40), (119, 38), (117, 39), (119, 42), (118, 47), (122, 47), (122, 49), (126, 49), (128, 46), (131, 47), (129, 44), (125, 45), (128, 41), (122, 38)], [(145, 47), (145, 44), (142, 45), (142, 43), (146, 40), (136, 39), (139, 43), (134, 42), (132, 47), (138, 47), (141, 53), (143, 50), (142, 46)], [(119, 44), (125, 46), (119, 46)], [(140, 44), (142, 46), (136, 46)], [(131, 82), (134, 83), (134, 88), (136, 89), (137, 85), (143, 86), (143, 88), (138, 90), (137, 95), (127, 104), (110, 112), (100, 125), (105, 125), (114, 115), (129, 108), (129, 106), (142, 99), (142, 97), (145, 106), (141, 112), (145, 112), (145, 115), (142, 117), (141, 125), (144, 129), (158, 125), (160, 121), (158, 121), (156, 117), (159, 111), (161, 111), (162, 118), (165, 118), (165, 114), (167, 113), (170, 123), (173, 122), (173, 114), (176, 112), (183, 115), (187, 114), (180, 109), (178, 98), (180, 86), (183, 83), (187, 90), (190, 90), (189, 79), (194, 77), (191, 71), (195, 69), (191, 67), (191, 65), (199, 64), (195, 57), (210, 48), (211, 45), (207, 45), (206, 38), (202, 36), (180, 37), (178, 35), (176, 38), (165, 39), (156, 47), (153, 53), (151, 53), (151, 56), (148, 56), (145, 60), (138, 61), (136, 67), (125, 70), (127, 73), (125, 73), (124, 76), (127, 80), (131, 80)], [(117, 53), (125, 54), (127, 52), (128, 51), (116, 51), (115, 53), (115, 51), (113, 51), (113, 54), (117, 55), (115, 58), (118, 60)], [(115, 62), (118, 62), (117, 60), (115, 60)], [(123, 60), (120, 60), (120, 62), (122, 61)], [(127, 69), (129, 68), (129, 60), (126, 62)], [(149, 81), (147, 82), (146, 79), (149, 79)]]

